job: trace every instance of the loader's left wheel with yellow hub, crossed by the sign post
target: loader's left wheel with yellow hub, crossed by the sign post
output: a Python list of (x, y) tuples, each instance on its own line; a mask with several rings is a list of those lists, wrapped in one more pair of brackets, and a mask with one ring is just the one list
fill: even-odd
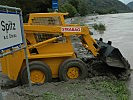
[[(52, 80), (52, 72), (47, 64), (44, 64), (41, 61), (33, 61), (29, 64), (29, 67), (32, 84), (43, 84)], [(22, 84), (28, 83), (26, 67), (22, 71), (21, 82)]]

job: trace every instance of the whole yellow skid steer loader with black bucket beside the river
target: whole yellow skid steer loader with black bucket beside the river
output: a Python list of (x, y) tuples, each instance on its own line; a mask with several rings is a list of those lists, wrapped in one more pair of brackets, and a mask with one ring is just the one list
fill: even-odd
[[(130, 65), (111, 41), (91, 37), (87, 26), (66, 24), (67, 13), (32, 13), (24, 24), (27, 40), (30, 77), (33, 84), (43, 84), (58, 78), (61, 81), (85, 79), (95, 69), (100, 73), (111, 71), (120, 78), (129, 77)], [(77, 57), (71, 42), (77, 36), (92, 57)], [(15, 48), (14, 48), (15, 49)], [(28, 82), (23, 50), (0, 59), (2, 72), (10, 80)], [(106, 66), (101, 68), (101, 65)]]

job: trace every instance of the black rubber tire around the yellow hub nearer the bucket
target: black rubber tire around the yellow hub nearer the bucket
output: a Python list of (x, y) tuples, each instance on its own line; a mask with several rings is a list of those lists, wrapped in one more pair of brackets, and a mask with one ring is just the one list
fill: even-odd
[[(61, 81), (70, 81), (72, 79), (67, 77), (68, 68), (78, 67), (80, 69), (80, 76), (77, 79), (85, 79), (88, 76), (87, 65), (80, 59), (67, 59), (65, 60), (59, 68), (59, 79)], [(77, 80), (75, 79), (75, 80)]]

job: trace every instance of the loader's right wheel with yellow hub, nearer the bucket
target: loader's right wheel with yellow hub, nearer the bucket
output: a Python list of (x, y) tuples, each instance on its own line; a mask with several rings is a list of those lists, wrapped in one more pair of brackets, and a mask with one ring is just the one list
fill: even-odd
[(80, 59), (68, 59), (59, 68), (59, 78), (61, 81), (85, 79), (87, 75), (87, 66)]

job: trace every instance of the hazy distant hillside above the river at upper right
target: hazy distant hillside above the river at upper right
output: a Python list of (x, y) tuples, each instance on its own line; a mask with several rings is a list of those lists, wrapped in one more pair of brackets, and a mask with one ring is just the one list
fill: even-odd
[(89, 0), (90, 6), (96, 11), (104, 13), (130, 12), (130, 8), (118, 0)]

